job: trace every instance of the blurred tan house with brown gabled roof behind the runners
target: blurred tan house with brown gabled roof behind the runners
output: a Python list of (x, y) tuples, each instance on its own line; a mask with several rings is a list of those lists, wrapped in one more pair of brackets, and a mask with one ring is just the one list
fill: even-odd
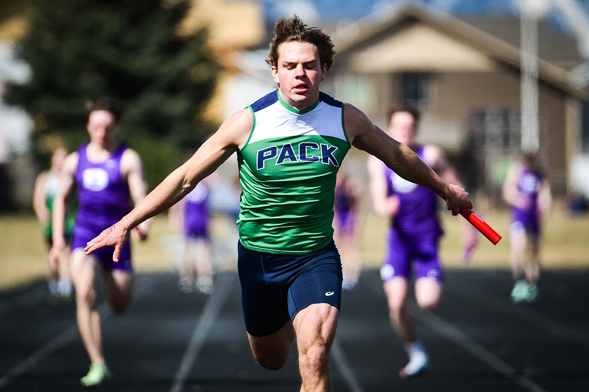
[[(405, 5), (340, 28), (327, 92), (387, 125), (393, 102), (422, 112), (418, 140), (441, 145), (469, 189), (497, 197), (521, 145), (519, 19), (459, 19)], [(538, 24), (540, 154), (557, 194), (568, 190), (581, 151), (585, 88), (570, 83), (584, 63), (571, 35)]]

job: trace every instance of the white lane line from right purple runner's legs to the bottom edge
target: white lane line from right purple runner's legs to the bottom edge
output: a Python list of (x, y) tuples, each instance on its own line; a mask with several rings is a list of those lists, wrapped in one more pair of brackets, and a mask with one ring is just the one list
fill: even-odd
[[(376, 285), (376, 280), (374, 282), (370, 281), (370, 288), (372, 288), (372, 291), (376, 294), (385, 296), (385, 292), (382, 290), (382, 281), (378, 279), (378, 282), (380, 283), (380, 286)], [(462, 333), (462, 331), (452, 326), (444, 319), (421, 310), (421, 308), (413, 302), (409, 303), (409, 309), (412, 314), (415, 315), (416, 318), (419, 318), (423, 323), (428, 324), (433, 330), (438, 331), (438, 333), (449, 338), (449, 340), (454, 341), (457, 346), (462, 347), (466, 352), (471, 353), (473, 356), (484, 361), (505, 377), (511, 378), (515, 383), (532, 392), (546, 392), (542, 387), (538, 386), (538, 384), (528, 378), (517, 376), (517, 372), (514, 368), (502, 361), (501, 358), (495, 356), (495, 354), (485, 350), (485, 348), (480, 346), (476, 341), (469, 338), (466, 334)]]

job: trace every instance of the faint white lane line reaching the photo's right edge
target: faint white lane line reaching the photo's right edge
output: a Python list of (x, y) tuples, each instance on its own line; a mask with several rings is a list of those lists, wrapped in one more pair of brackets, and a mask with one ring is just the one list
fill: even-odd
[(514, 305), (511, 303), (511, 301), (499, 297), (497, 294), (481, 293), (481, 291), (477, 290), (476, 288), (469, 287), (464, 283), (454, 282), (452, 285), (448, 286), (450, 291), (458, 289), (468, 293), (468, 295), (461, 296), (467, 298), (472, 303), (484, 305), (489, 309), (498, 311), (499, 313), (508, 315), (509, 317), (527, 321), (528, 323), (533, 324), (535, 327), (542, 328), (548, 333), (555, 334), (562, 338), (589, 346), (589, 333), (587, 331), (561, 323), (560, 321), (538, 313), (538, 311), (535, 311), (531, 308)]

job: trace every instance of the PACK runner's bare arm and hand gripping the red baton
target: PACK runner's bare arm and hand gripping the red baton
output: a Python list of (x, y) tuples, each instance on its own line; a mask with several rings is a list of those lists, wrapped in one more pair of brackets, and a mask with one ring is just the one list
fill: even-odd
[(458, 215), (461, 208), (472, 208), (468, 193), (462, 187), (442, 180), (411, 148), (389, 137), (359, 109), (346, 104), (344, 121), (348, 137), (355, 147), (385, 162), (405, 180), (444, 195), (452, 215)]

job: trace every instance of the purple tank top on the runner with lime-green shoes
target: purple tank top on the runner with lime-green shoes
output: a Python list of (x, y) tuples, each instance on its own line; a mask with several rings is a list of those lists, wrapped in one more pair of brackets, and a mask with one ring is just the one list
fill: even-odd
[(76, 225), (103, 230), (131, 211), (127, 180), (121, 175), (121, 157), (127, 147), (121, 145), (107, 161), (88, 161), (83, 144), (78, 148), (78, 167), (74, 179), (78, 192)]

